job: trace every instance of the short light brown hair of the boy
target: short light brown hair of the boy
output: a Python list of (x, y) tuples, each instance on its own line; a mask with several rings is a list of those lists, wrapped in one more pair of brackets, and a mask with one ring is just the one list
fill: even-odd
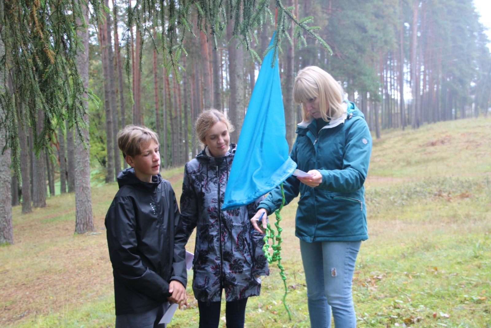
[(157, 133), (145, 126), (126, 125), (118, 132), (118, 147), (123, 152), (123, 157), (127, 155), (134, 157), (141, 154), (141, 149), (146, 147), (151, 141), (159, 146), (159, 136)]

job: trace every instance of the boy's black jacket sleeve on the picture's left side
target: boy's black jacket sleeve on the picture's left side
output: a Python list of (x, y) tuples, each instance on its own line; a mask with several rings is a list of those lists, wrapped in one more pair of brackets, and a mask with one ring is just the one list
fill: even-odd
[(167, 301), (168, 282), (144, 265), (138, 251), (135, 209), (130, 198), (113, 201), (106, 216), (106, 228), (114, 278), (159, 302)]

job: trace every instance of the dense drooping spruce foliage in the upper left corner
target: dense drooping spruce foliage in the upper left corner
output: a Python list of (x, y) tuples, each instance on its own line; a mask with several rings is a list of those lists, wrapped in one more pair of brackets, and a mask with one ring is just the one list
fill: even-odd
[[(0, 37), (4, 52), (0, 54), (0, 74), (4, 81), (0, 93), (6, 144), (2, 152), (12, 149), (12, 167), (20, 174), (19, 128), (32, 129), (33, 149), (51, 153), (49, 144), (63, 121), (75, 127), (83, 140), (83, 115), (87, 108), (84, 96), (97, 101), (85, 89), (77, 68), (77, 56), (85, 51), (77, 31), (87, 26), (83, 0), (0, 0)], [(98, 20), (99, 1), (90, 1), (93, 17)], [(95, 15), (97, 14), (97, 15)], [(79, 19), (79, 20), (77, 20)], [(38, 113), (43, 113), (41, 131)], [(19, 124), (19, 125), (18, 125)]]

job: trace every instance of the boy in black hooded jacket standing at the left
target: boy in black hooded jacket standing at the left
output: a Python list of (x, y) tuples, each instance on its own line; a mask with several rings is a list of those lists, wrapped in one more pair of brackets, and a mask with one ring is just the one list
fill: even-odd
[(116, 328), (160, 328), (168, 302), (186, 303), (186, 237), (176, 197), (159, 174), (157, 134), (127, 125), (118, 146), (131, 166), (106, 214)]

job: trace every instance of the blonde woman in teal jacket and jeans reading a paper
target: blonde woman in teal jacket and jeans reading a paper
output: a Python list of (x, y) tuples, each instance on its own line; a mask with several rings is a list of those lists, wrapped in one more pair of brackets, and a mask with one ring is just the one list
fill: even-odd
[[(308, 66), (295, 79), (293, 96), (303, 121), (290, 156), (310, 177), (284, 182), (286, 204), (300, 193), (295, 235), (307, 283), (312, 328), (331, 324), (355, 328), (352, 279), (361, 241), (368, 239), (364, 187), (372, 138), (363, 114), (344, 99), (341, 86), (323, 69)], [(273, 213), (281, 204), (279, 188), (259, 204), (251, 219)], [(263, 215), (262, 226), (266, 228)]]

